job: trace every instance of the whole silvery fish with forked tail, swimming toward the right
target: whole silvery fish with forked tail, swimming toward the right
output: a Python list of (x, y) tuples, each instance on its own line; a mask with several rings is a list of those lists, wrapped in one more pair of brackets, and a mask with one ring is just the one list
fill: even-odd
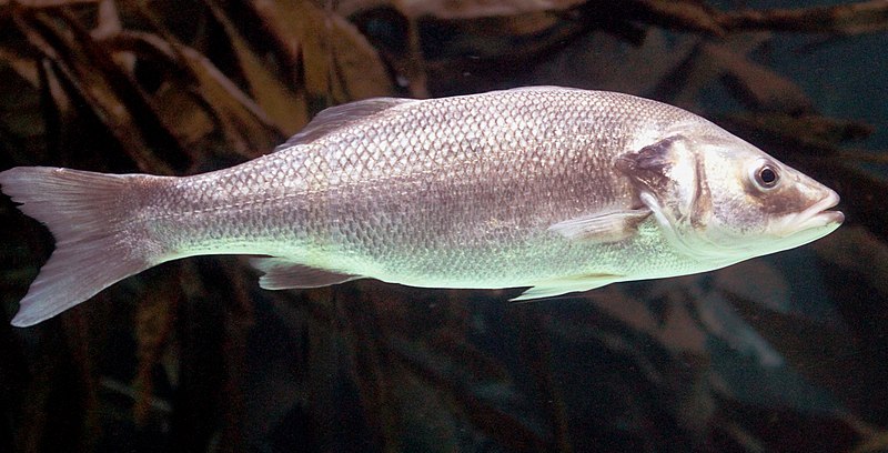
[(561, 87), (336, 105), (208, 173), (17, 167), (0, 188), (56, 240), (16, 326), (195, 255), (250, 255), (268, 290), (372, 278), (524, 301), (707, 272), (844, 221), (835, 191), (697, 114)]

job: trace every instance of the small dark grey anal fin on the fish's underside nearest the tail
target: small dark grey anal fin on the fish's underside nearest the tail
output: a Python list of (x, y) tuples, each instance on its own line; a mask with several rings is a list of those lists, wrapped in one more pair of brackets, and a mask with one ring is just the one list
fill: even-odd
[(265, 290), (320, 288), (361, 278), (307, 266), (278, 256), (254, 258), (250, 260), (250, 265), (264, 273), (259, 278), (259, 285)]

